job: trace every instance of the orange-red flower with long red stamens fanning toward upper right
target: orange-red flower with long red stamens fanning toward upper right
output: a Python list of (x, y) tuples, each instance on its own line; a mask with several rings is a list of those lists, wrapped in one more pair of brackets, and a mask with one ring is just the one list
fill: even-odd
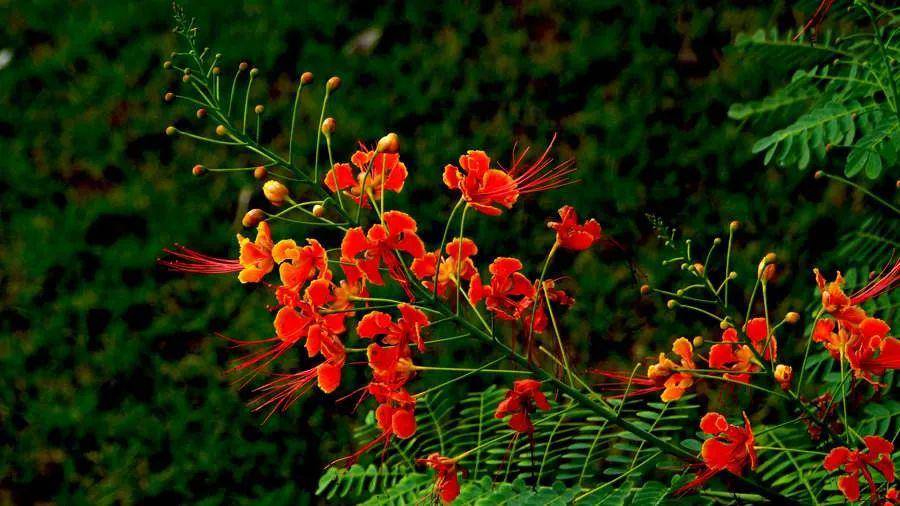
[(568, 176), (575, 170), (571, 163), (551, 167), (551, 160), (547, 158), (555, 140), (556, 135), (540, 158), (527, 167), (522, 166), (522, 161), (528, 150), (519, 157), (514, 152), (508, 171), (492, 169), (491, 159), (484, 151), (469, 150), (459, 157), (459, 167), (452, 164), (444, 167), (444, 184), (451, 190), (459, 190), (469, 207), (489, 216), (497, 216), (503, 212), (502, 207), (511, 209), (519, 195), (570, 183)]

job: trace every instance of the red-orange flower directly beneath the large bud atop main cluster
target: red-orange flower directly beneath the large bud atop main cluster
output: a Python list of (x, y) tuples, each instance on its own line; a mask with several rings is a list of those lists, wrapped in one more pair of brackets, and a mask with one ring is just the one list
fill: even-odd
[(400, 193), (406, 181), (406, 165), (397, 153), (376, 153), (363, 149), (350, 157), (349, 163), (336, 163), (325, 174), (325, 186), (329, 190), (343, 191), (354, 202), (369, 207), (369, 198), (380, 200), (390, 190)]

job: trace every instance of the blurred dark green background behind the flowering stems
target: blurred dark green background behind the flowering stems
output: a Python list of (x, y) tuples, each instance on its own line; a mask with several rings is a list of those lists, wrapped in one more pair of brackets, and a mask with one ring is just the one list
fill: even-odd
[[(323, 83), (341, 76), (336, 158), (397, 132), (410, 179), (394, 202), (432, 245), (454, 198), (444, 164), (470, 148), (507, 160), (515, 142), (543, 148), (558, 133), (553, 156), (575, 159), (581, 183), (468, 230), (480, 265), (517, 255), (532, 276), (553, 241), (544, 223), (564, 203), (623, 246), (554, 263), (574, 278), (564, 284), (579, 303), (563, 325), (582, 366), (630, 368), (674, 336), (718, 333), (640, 296), (648, 279), (681, 275), (661, 266), (668, 252), (647, 213), (702, 251), (740, 220), (733, 265), (753, 279), (777, 252), (777, 314), (812, 301), (810, 269), (837, 267), (836, 238), (864, 218), (845, 187), (764, 167), (755, 137), (726, 115), (790, 76), (734, 55), (736, 34), (795, 29), (815, 2), (372, 4), (185, 8), (227, 75), (240, 61), (261, 70), (251, 102), (265, 104), (263, 139), (276, 149), (309, 70), (299, 142), (311, 160)], [(263, 424), (223, 376), (235, 352), (214, 333), (270, 336), (269, 296), (155, 263), (174, 242), (234, 255), (248, 199), (262, 202), (247, 173), (191, 175), (245, 155), (163, 134), (213, 127), (162, 100), (180, 84), (162, 69), (180, 43), (170, 3), (0, 2), (0, 22), (0, 504), (317, 502), (320, 472), (347, 453), (360, 416), (313, 395)]]

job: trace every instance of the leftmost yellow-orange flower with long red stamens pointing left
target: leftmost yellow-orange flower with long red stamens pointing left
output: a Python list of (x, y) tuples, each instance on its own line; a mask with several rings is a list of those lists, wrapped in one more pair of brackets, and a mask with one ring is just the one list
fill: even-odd
[(237, 239), (241, 249), (237, 260), (209, 256), (176, 244), (174, 250), (163, 250), (175, 257), (175, 260), (159, 260), (159, 263), (180, 272), (198, 274), (240, 272), (238, 280), (241, 283), (258, 283), (275, 267), (269, 224), (265, 221), (260, 222), (256, 228), (256, 241), (251, 242), (241, 234), (238, 234)]

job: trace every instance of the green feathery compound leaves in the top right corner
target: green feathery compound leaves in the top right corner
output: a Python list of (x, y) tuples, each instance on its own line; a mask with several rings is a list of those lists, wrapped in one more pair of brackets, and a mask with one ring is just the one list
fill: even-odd
[(771, 95), (728, 110), (730, 118), (751, 120), (769, 131), (786, 125), (753, 145), (753, 153), (765, 153), (765, 164), (822, 167), (834, 151), (845, 160), (847, 177), (876, 179), (897, 167), (900, 98), (896, 71), (886, 55), (900, 51), (900, 17), (896, 11), (878, 12), (875, 33), (829, 33), (814, 43), (762, 30), (737, 38), (736, 52), (760, 68), (795, 70), (788, 84)]

